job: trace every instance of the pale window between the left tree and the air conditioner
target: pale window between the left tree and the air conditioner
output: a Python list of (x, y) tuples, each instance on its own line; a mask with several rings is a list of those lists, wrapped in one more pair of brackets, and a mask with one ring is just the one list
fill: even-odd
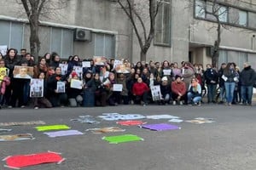
[(56, 52), (62, 59), (73, 54), (73, 31), (62, 28), (51, 28), (50, 51)]

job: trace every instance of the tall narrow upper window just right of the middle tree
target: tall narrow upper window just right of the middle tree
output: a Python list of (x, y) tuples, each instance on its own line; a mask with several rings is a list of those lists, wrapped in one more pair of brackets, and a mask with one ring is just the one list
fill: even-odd
[(155, 20), (154, 43), (170, 45), (171, 43), (171, 0), (160, 3), (159, 11)]

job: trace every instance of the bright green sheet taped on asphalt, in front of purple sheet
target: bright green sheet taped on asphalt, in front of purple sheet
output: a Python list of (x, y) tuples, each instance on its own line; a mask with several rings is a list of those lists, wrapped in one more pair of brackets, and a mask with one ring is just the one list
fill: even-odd
[(138, 137), (137, 135), (133, 135), (133, 134), (125, 134), (125, 135), (119, 135), (119, 136), (108, 136), (108, 137), (103, 137), (102, 139), (107, 140), (109, 142), (109, 144), (119, 144), (119, 143), (124, 143), (124, 142), (143, 140), (141, 137)]

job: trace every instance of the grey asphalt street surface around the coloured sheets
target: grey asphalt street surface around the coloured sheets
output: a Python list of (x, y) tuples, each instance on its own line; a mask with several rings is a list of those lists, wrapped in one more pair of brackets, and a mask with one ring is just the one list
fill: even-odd
[[(0, 142), (0, 158), (26, 155), (47, 150), (60, 152), (67, 160), (26, 167), (42, 170), (255, 170), (256, 169), (256, 105), (119, 105), (93, 108), (3, 109), (0, 122), (44, 121), (47, 125), (66, 124), (83, 135), (49, 138), (38, 132), (37, 125), (11, 128), (3, 134), (32, 133), (35, 139)], [(168, 119), (142, 119), (148, 123), (171, 123), (181, 129), (151, 131), (137, 126), (124, 127), (116, 121), (100, 120), (100, 124), (71, 122), (79, 116), (102, 113), (169, 114), (183, 120), (212, 118), (212, 123), (168, 122)], [(125, 132), (96, 134), (86, 132), (93, 127), (122, 127)], [(108, 144), (103, 136), (135, 134), (143, 141)], [(0, 162), (0, 169), (5, 161)]]

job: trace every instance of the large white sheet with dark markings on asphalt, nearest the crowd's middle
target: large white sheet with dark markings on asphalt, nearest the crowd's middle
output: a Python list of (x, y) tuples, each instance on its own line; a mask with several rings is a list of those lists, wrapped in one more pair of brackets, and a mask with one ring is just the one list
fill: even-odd
[(103, 113), (101, 117), (106, 121), (118, 121), (118, 120), (135, 120), (135, 119), (143, 119), (145, 116), (139, 114), (126, 114), (121, 115), (119, 113)]

